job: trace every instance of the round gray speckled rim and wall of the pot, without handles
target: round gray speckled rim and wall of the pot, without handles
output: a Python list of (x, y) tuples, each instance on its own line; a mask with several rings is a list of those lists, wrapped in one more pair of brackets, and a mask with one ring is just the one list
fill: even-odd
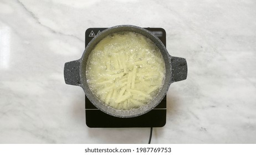
[[(126, 29), (126, 30), (123, 30), (123, 29)], [(152, 40), (152, 42), (156, 44), (156, 46), (160, 49), (162, 53), (163, 59), (165, 61), (166, 73), (165, 73), (165, 81), (160, 92), (158, 92), (158, 94), (151, 100), (149, 104), (145, 106), (141, 106), (140, 108), (131, 109), (131, 110), (116, 110), (115, 108), (107, 106), (103, 104), (101, 101), (96, 99), (96, 97), (93, 95), (93, 93), (89, 89), (88, 83), (86, 81), (85, 71), (86, 71), (86, 62), (87, 62), (88, 56), (90, 54), (90, 51), (94, 49), (95, 45), (97, 45), (100, 42), (100, 40), (104, 39), (107, 35), (110, 35), (112, 33), (117, 33), (117, 32), (124, 32), (124, 31), (140, 33), (145, 37), (149, 38), (150, 40)], [(79, 75), (80, 75), (80, 82), (81, 82), (80, 86), (83, 88), (85, 95), (88, 97), (88, 99), (91, 101), (91, 103), (94, 106), (99, 108), (99, 110), (112, 116), (122, 117), (122, 118), (136, 117), (151, 111), (162, 101), (163, 97), (165, 97), (171, 85), (171, 75), (172, 75), (171, 56), (168, 54), (168, 51), (165, 45), (163, 45), (161, 40), (155, 37), (155, 35), (153, 35), (149, 30), (146, 30), (144, 28), (137, 27), (134, 25), (117, 25), (115, 27), (110, 27), (103, 30), (100, 34), (96, 35), (96, 37), (94, 37), (90, 41), (90, 43), (86, 46), (84, 53), (81, 56), (81, 59), (79, 59), (79, 61), (80, 61)]]

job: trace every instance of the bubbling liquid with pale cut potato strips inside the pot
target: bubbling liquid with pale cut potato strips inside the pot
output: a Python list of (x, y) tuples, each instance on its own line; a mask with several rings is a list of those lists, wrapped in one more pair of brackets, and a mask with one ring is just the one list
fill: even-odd
[(101, 102), (129, 110), (146, 105), (158, 94), (165, 78), (165, 62), (150, 39), (120, 32), (107, 36), (91, 51), (86, 77)]

